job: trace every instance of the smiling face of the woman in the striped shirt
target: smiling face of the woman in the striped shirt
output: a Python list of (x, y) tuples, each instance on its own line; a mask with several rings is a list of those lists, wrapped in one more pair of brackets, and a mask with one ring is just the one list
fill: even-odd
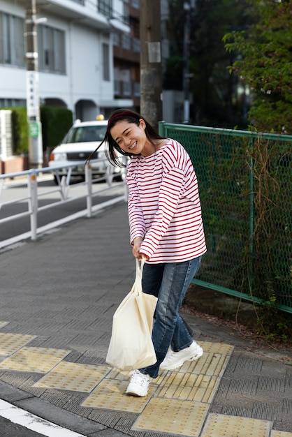
[(115, 126), (110, 129), (110, 135), (117, 142), (119, 147), (126, 153), (149, 156), (153, 153), (153, 145), (147, 140), (145, 135), (145, 121), (139, 120), (139, 126), (129, 121), (117, 121)]

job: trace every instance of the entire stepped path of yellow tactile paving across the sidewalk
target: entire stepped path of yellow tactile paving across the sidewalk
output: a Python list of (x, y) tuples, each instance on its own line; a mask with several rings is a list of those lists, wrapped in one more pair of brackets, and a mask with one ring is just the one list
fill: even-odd
[[(0, 328), (6, 324), (0, 321)], [(272, 422), (268, 420), (208, 414), (232, 345), (198, 342), (203, 347), (203, 357), (185, 362), (177, 371), (160, 372), (159, 378), (150, 383), (147, 397), (133, 397), (125, 394), (129, 372), (106, 365), (62, 361), (71, 350), (25, 346), (34, 338), (0, 333), (0, 355), (5, 357), (0, 369), (48, 373), (33, 387), (90, 393), (82, 407), (138, 413), (134, 430), (186, 437), (292, 437), (292, 433), (270, 431)]]

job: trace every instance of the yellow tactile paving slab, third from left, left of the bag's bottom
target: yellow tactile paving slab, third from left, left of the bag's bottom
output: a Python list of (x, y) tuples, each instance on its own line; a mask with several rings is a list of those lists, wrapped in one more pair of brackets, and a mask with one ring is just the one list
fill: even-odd
[(108, 366), (92, 366), (63, 361), (43, 376), (33, 387), (90, 393), (108, 371), (110, 371)]

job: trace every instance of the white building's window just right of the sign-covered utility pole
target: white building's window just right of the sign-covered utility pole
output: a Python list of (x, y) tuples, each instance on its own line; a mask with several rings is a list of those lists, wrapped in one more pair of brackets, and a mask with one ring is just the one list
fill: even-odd
[(38, 27), (38, 68), (50, 73), (66, 73), (64, 31)]

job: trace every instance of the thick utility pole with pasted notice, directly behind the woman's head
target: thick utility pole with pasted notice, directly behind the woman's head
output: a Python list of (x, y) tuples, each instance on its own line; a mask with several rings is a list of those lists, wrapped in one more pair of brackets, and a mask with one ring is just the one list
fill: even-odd
[(162, 120), (160, 3), (140, 0), (140, 112), (154, 128)]

